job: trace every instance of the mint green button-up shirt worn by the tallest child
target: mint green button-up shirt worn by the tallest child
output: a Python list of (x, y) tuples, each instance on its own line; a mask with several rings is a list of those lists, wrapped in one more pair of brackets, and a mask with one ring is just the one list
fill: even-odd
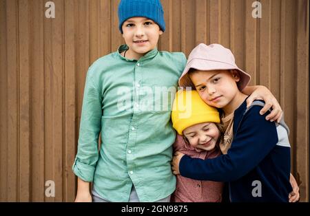
[(186, 57), (154, 49), (136, 61), (121, 56), (124, 50), (127, 45), (99, 58), (87, 72), (72, 169), (111, 202), (128, 202), (132, 184), (141, 202), (154, 202), (176, 188), (170, 117)]

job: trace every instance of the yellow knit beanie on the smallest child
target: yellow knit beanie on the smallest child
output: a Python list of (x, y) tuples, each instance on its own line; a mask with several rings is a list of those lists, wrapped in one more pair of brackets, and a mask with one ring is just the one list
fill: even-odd
[(192, 125), (203, 122), (220, 123), (220, 114), (214, 107), (207, 105), (197, 91), (176, 92), (172, 107), (172, 124), (178, 134)]

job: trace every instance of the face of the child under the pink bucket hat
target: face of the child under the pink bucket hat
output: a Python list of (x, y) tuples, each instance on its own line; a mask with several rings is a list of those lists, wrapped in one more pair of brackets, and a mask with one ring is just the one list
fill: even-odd
[(189, 75), (207, 105), (223, 108), (230, 105), (238, 95), (237, 83), (240, 80), (238, 72), (229, 70), (196, 71)]

